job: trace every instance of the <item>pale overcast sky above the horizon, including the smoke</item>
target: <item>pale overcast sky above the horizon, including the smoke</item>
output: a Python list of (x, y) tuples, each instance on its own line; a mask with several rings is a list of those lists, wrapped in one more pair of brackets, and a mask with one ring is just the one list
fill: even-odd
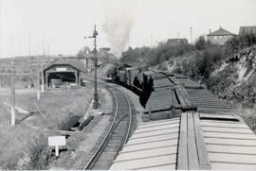
[(1, 58), (43, 53), (75, 55), (92, 40), (114, 52), (187, 38), (222, 26), (238, 34), (239, 26), (256, 26), (256, 0), (0, 0)]

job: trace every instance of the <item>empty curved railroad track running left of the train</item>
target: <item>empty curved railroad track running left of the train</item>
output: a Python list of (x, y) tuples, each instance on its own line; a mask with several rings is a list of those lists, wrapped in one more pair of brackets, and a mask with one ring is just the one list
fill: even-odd
[[(89, 77), (89, 79), (91, 79)], [(92, 157), (83, 170), (108, 169), (126, 144), (133, 124), (133, 108), (130, 99), (119, 89), (101, 82), (114, 99), (114, 117), (105, 137), (92, 149)]]

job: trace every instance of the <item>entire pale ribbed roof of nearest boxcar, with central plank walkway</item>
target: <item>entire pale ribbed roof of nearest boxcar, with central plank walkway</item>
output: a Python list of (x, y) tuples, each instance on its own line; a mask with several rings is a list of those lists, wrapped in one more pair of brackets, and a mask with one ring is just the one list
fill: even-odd
[(110, 169), (256, 169), (256, 135), (235, 114), (142, 123)]

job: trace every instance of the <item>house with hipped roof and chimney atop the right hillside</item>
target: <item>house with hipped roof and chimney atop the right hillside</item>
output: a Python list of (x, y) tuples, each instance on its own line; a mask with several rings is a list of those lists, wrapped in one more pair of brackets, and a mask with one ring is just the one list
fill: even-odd
[(207, 35), (207, 40), (210, 42), (210, 43), (215, 43), (215, 44), (224, 44), (226, 43), (230, 38), (234, 37), (235, 34), (227, 31), (226, 29), (223, 29), (221, 26), (220, 26), (220, 29), (216, 30), (216, 31), (213, 31), (213, 32), (210, 32), (208, 35)]

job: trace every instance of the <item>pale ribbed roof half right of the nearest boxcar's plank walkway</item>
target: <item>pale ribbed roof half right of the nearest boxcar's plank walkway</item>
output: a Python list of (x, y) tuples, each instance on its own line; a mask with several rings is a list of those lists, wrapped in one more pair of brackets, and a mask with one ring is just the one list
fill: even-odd
[(201, 119), (200, 123), (211, 169), (256, 170), (256, 135), (242, 119)]

